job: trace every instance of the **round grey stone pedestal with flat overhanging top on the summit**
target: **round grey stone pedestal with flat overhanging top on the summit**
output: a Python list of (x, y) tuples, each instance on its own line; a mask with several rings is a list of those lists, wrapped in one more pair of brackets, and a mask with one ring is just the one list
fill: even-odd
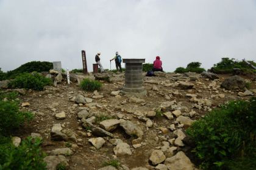
[(126, 71), (124, 74), (125, 85), (122, 93), (128, 96), (144, 96), (147, 91), (142, 83), (142, 63), (144, 58), (123, 58), (123, 63), (126, 63)]

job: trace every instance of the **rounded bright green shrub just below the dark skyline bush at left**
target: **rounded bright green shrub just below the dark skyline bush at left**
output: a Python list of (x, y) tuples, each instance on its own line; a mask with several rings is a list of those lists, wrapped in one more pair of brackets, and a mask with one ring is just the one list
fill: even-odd
[(43, 77), (38, 73), (23, 73), (20, 76), (16, 77), (15, 80), (11, 80), (8, 86), (9, 88), (31, 88), (37, 91), (41, 91), (43, 90), (45, 85), (51, 84), (52, 79)]

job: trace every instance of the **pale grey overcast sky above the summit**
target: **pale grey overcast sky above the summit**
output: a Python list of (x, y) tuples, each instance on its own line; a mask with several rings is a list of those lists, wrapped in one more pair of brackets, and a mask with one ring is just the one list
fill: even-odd
[(256, 60), (255, 0), (0, 0), (0, 26), (4, 72), (32, 61), (81, 69), (82, 50), (88, 71), (97, 52), (108, 69), (116, 51), (146, 63), (158, 55), (166, 72)]

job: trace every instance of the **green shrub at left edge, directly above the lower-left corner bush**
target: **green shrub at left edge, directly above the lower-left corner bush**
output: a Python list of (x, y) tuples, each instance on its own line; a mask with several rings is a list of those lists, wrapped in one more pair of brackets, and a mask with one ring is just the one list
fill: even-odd
[(30, 112), (20, 112), (18, 104), (11, 101), (0, 101), (0, 134), (19, 127), (23, 122), (30, 122), (34, 115)]

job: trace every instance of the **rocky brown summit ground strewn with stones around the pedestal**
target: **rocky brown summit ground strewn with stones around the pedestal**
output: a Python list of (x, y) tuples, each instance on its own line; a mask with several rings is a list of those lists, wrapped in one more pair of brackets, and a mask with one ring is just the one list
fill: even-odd
[[(44, 160), (49, 169), (60, 162), (67, 169), (100, 169), (112, 159), (119, 161), (119, 169), (197, 169), (199, 162), (185, 137), (191, 122), (219, 104), (247, 100), (256, 93), (252, 76), (240, 76), (251, 83), (250, 93), (220, 86), (232, 74), (211, 80), (193, 73), (153, 77), (143, 73), (147, 94), (131, 97), (119, 93), (124, 74), (113, 74), (110, 82), (102, 80), (99, 91), (84, 91), (78, 82), (68, 84), (65, 77), (43, 91), (26, 91), (18, 96), (20, 110), (34, 113), (35, 119), (12, 136), (43, 137), (41, 148), (48, 154)], [(76, 77), (94, 79), (93, 74)], [(155, 112), (157, 108), (162, 116)]]

